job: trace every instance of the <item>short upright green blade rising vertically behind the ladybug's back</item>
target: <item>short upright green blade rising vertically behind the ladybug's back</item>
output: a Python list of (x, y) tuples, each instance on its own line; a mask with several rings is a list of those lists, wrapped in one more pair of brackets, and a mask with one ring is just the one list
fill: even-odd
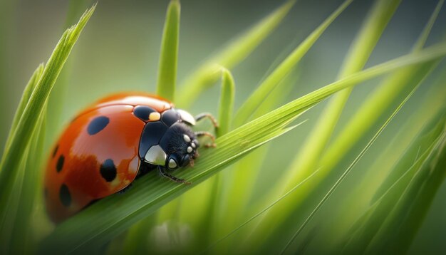
[(174, 100), (177, 82), (178, 38), (180, 36), (180, 1), (171, 0), (162, 34), (157, 94)]

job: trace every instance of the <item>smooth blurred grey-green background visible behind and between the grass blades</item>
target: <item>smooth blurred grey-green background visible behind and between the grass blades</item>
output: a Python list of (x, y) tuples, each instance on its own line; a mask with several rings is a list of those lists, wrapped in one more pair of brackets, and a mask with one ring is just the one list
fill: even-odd
[[(85, 1), (85, 8), (92, 1)], [(274, 10), (282, 1), (182, 1), (178, 80), (185, 78), (217, 49), (226, 45), (256, 21)], [(331, 14), (342, 1), (301, 0), (286, 16), (282, 24), (264, 43), (232, 70), (236, 82), (235, 108), (254, 90), (271, 65), (289, 53), (308, 33)], [(86, 105), (111, 92), (144, 90), (155, 92), (157, 63), (165, 10), (168, 1), (103, 0), (85, 27), (81, 38), (63, 71), (68, 88), (63, 94), (60, 127)], [(354, 1), (306, 54), (300, 64), (301, 74), (288, 100), (299, 98), (316, 88), (336, 80), (343, 57), (358, 32), (373, 1)], [(435, 8), (435, 0), (403, 0), (367, 66), (401, 56), (410, 51), (423, 26)], [(1, 0), (0, 4), (0, 153), (9, 131), (21, 92), (38, 63), (45, 62), (67, 27), (69, 2), (60, 0)], [(76, 19), (81, 12), (76, 14)], [(427, 45), (440, 41), (445, 34), (446, 11), (440, 12)], [(437, 68), (444, 70), (444, 68)], [(337, 127), (342, 128), (356, 105), (373, 89), (378, 79), (353, 90)], [(58, 81), (59, 82), (59, 81)], [(361, 175), (361, 165), (373, 162), (380, 148), (386, 144), (432, 84), (432, 78), (415, 93), (400, 114), (393, 120), (375, 145), (356, 167), (348, 182)], [(56, 83), (57, 87), (57, 83)], [(199, 97), (192, 113), (209, 111), (217, 114), (219, 86), (214, 86)], [(269, 160), (261, 170), (256, 192), (265, 192), (270, 182), (280, 175), (277, 166), (284, 167), (299, 150), (325, 103), (321, 103), (305, 118), (308, 122), (293, 132), (274, 141)], [(428, 109), (426, 109), (428, 110)], [(60, 130), (54, 130), (57, 134)], [(336, 132), (336, 130), (335, 130)], [(292, 141), (292, 142), (289, 142)], [(361, 148), (361, 147), (360, 147)], [(346, 159), (346, 164), (348, 160)], [(346, 184), (345, 186), (348, 186)], [(336, 207), (336, 192), (328, 207)], [(426, 247), (446, 252), (446, 184), (442, 185), (410, 252), (418, 254)], [(334, 203), (334, 204), (333, 204)], [(329, 217), (329, 215), (327, 215)]]

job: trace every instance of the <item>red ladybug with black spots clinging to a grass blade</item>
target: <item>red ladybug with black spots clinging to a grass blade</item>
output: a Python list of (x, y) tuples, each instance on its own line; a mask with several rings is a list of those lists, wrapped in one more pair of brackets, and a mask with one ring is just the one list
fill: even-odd
[(198, 120), (156, 95), (120, 93), (99, 100), (71, 122), (53, 148), (46, 166), (46, 208), (53, 222), (61, 222), (98, 199), (123, 192), (149, 170), (162, 177), (188, 183), (170, 175), (198, 157)]

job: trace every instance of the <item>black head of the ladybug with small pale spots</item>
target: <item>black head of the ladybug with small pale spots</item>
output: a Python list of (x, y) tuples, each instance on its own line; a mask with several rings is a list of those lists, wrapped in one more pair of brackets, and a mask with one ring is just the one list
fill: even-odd
[(165, 166), (170, 170), (193, 165), (198, 156), (197, 136), (185, 123), (178, 122), (170, 126), (160, 145), (167, 155)]

